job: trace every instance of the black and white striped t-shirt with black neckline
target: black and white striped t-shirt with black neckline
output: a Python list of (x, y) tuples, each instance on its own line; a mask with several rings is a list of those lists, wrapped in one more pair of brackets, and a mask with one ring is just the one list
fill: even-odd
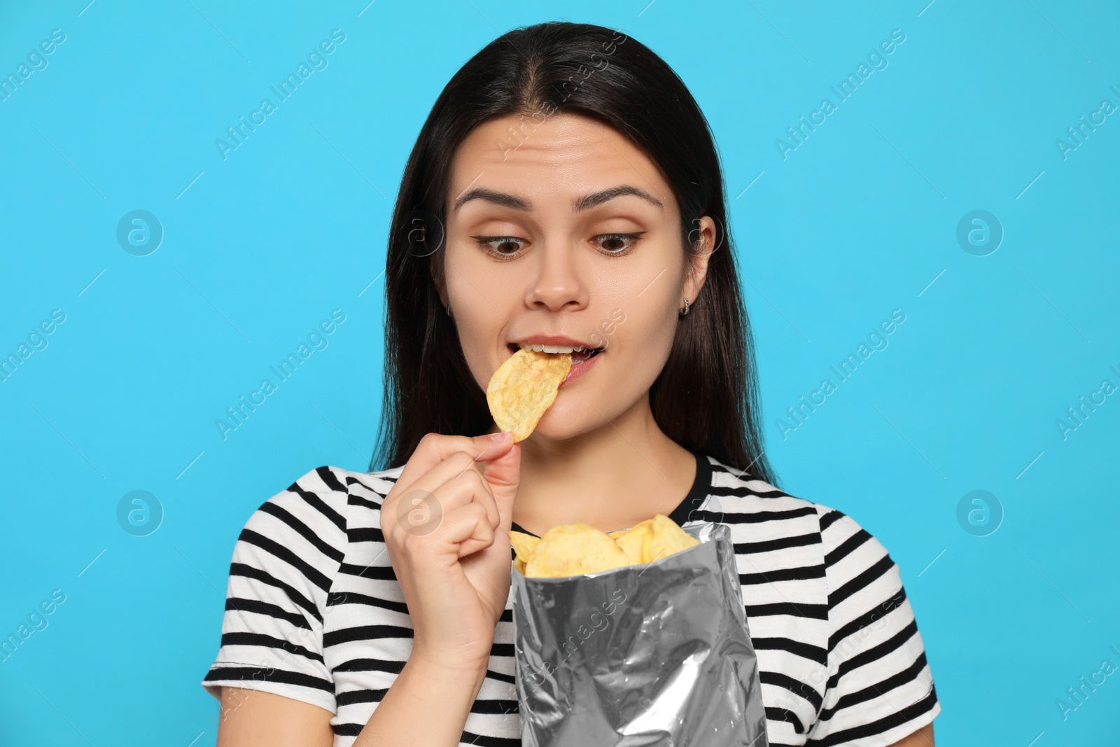
[[(671, 519), (730, 527), (769, 744), (880, 747), (931, 722), (933, 675), (883, 544), (834, 508), (696, 456)], [(353, 744), (412, 650), (379, 515), (402, 469), (319, 467), (250, 516), (202, 682), (212, 695), (232, 685), (320, 706), (334, 713), (335, 747)], [(512, 600), (460, 745), (521, 744)]]

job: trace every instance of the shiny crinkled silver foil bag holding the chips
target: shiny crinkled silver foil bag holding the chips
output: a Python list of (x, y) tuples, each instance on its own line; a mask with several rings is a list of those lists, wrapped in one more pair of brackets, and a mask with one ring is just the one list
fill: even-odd
[(642, 566), (513, 571), (525, 747), (768, 747), (758, 660), (724, 524)]

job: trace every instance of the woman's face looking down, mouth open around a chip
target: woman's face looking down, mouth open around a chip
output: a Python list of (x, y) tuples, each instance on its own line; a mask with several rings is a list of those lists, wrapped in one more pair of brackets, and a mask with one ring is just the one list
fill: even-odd
[[(707, 239), (713, 224), (703, 221)], [(703, 282), (699, 265), (697, 278), (688, 272), (676, 200), (657, 168), (580, 115), (476, 128), (451, 166), (446, 230), (445, 301), (483, 390), (516, 343), (549, 335), (604, 348), (573, 366), (587, 367), (560, 386), (534, 438), (601, 428), (644, 398), (669, 358), (678, 309)]]

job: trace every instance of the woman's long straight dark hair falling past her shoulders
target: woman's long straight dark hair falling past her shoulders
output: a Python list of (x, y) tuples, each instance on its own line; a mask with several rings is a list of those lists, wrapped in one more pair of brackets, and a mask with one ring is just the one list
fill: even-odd
[(476, 436), (493, 426), (437, 290), (450, 164), (487, 120), (522, 115), (531, 127), (558, 112), (610, 125), (657, 165), (676, 198), (690, 262), (699, 217), (715, 220), (720, 235), (707, 280), (678, 321), (650, 403), (676, 443), (775, 484), (763, 452), (754, 340), (708, 121), (651, 49), (601, 26), (563, 21), (516, 28), (486, 45), (444, 87), (412, 148), (389, 231), (384, 403), (370, 470), (403, 465), (424, 433)]

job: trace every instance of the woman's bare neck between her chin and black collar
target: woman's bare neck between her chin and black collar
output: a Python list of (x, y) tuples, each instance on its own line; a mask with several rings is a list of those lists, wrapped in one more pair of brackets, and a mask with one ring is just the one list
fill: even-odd
[(694, 457), (657, 427), (648, 393), (600, 428), (566, 439), (534, 433), (521, 445), (513, 521), (538, 535), (575, 523), (612, 532), (668, 515), (696, 478)]

